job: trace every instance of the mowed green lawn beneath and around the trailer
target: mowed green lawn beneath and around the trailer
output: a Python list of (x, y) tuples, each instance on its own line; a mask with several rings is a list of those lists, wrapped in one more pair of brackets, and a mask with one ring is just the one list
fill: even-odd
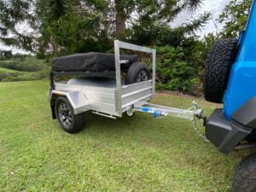
[[(237, 163), (183, 119), (86, 113), (70, 135), (51, 119), (46, 81), (0, 83), (0, 191), (230, 191)], [(195, 98), (157, 95), (189, 108)], [(220, 106), (197, 99), (210, 114)]]

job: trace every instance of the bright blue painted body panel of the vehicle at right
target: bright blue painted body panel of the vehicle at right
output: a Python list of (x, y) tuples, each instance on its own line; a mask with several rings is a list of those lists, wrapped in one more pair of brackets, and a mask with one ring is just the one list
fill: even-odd
[(256, 2), (253, 6), (246, 30), (239, 39), (239, 51), (230, 72), (229, 84), (224, 95), (224, 117), (231, 116), (238, 108), (256, 96)]

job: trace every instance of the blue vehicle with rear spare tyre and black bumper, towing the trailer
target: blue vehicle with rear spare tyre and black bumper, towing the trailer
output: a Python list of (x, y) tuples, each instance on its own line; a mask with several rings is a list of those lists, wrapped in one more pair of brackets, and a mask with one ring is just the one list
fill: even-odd
[[(224, 103), (207, 120), (206, 136), (222, 153), (256, 147), (256, 2), (240, 38), (213, 45), (204, 79), (207, 101)], [(232, 191), (256, 191), (256, 154), (242, 160)]]

